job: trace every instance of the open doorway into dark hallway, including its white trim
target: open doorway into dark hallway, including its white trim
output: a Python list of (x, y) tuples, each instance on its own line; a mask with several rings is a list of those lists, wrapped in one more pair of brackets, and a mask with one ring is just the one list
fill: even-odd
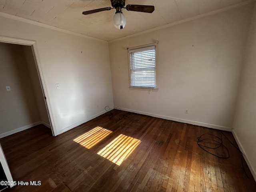
[(1, 111), (0, 137), (44, 124), (52, 130), (36, 42), (0, 37)]

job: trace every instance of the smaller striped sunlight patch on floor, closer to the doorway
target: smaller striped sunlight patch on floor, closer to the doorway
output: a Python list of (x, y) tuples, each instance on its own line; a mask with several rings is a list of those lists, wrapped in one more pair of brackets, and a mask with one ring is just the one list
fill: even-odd
[(73, 141), (90, 149), (98, 142), (106, 138), (110, 133), (112, 133), (112, 131), (104, 129), (102, 127), (95, 127), (92, 130), (78, 136)]

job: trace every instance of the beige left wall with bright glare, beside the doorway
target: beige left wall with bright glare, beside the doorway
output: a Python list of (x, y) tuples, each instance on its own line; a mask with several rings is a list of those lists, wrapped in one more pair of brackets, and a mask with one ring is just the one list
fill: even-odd
[[(14, 19), (13, 19), (14, 18)], [(0, 16), (0, 36), (36, 41), (55, 135), (113, 106), (108, 43)], [(60, 84), (56, 89), (55, 84)]]

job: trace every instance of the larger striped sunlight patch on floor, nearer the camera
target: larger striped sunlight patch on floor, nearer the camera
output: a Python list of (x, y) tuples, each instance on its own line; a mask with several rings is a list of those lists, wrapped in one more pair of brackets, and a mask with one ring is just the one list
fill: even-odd
[(140, 142), (141, 141), (138, 139), (120, 134), (97, 154), (117, 165), (121, 165), (122, 162), (126, 160), (126, 158), (128, 158), (128, 156), (140, 144)]

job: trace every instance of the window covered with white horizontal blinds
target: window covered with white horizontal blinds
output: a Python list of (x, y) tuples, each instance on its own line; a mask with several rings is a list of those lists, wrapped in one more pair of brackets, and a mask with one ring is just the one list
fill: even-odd
[(156, 89), (156, 46), (129, 50), (130, 87)]

